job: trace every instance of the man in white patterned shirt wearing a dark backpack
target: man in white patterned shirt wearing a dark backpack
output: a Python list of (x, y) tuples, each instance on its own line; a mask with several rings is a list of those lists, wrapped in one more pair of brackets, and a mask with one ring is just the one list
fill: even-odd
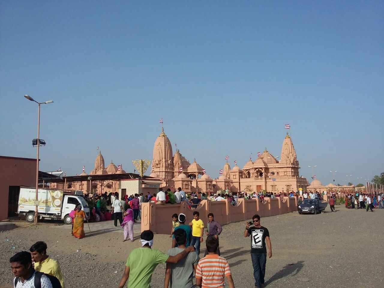
[[(13, 288), (60, 288), (61, 286), (56, 277), (36, 272), (35, 269), (33, 269), (32, 258), (29, 252), (18, 252), (9, 259), (9, 262), (11, 263), (13, 275), (15, 275)], [(55, 279), (57, 281), (56, 286), (51, 282), (55, 281)]]

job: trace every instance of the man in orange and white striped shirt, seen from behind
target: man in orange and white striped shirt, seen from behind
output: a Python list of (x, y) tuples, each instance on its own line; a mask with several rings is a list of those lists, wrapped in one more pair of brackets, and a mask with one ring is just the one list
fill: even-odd
[(200, 259), (196, 268), (196, 286), (202, 288), (224, 288), (227, 277), (229, 288), (235, 288), (227, 259), (216, 254), (218, 239), (208, 236), (206, 240), (208, 255)]

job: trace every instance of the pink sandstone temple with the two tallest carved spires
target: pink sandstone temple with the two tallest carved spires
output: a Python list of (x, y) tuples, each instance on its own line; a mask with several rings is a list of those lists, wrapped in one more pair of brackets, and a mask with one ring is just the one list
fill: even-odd
[[(228, 189), (231, 192), (259, 192), (261, 190), (286, 192), (306, 190), (308, 181), (299, 175), (299, 162), (291, 137), (286, 134), (281, 147), (280, 161), (268, 150), (255, 161), (249, 159), (242, 169), (236, 164), (231, 169), (225, 163), (223, 174), (217, 179), (210, 178), (196, 162), (192, 164), (176, 149), (172, 156), (172, 145), (164, 133), (164, 128), (156, 138), (153, 147), (151, 177), (160, 179), (163, 187), (185, 192), (217, 192)], [(199, 178), (199, 175), (201, 176)]]

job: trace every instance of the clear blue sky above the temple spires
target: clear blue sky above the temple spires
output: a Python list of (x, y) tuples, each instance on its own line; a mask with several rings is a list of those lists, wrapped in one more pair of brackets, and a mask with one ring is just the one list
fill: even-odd
[(384, 171), (383, 15), (382, 1), (2, 1), (0, 155), (36, 158), (29, 94), (54, 101), (42, 171), (89, 173), (100, 147), (133, 172), (163, 118), (211, 177), (226, 155), (279, 156), (290, 124), (300, 175), (365, 183)]

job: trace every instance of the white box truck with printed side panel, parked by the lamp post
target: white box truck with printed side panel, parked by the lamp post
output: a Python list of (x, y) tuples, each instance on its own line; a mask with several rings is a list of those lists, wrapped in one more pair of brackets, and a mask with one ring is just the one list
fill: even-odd
[[(64, 193), (62, 190), (38, 190), (38, 212), (39, 218), (61, 219), (65, 224), (71, 224), (72, 218), (70, 212), (77, 205), (81, 204), (83, 210), (89, 219), (89, 207), (83, 198), (82, 191), (74, 193)], [(27, 222), (35, 220), (36, 189), (30, 187), (20, 187), (18, 213), (25, 215)]]

